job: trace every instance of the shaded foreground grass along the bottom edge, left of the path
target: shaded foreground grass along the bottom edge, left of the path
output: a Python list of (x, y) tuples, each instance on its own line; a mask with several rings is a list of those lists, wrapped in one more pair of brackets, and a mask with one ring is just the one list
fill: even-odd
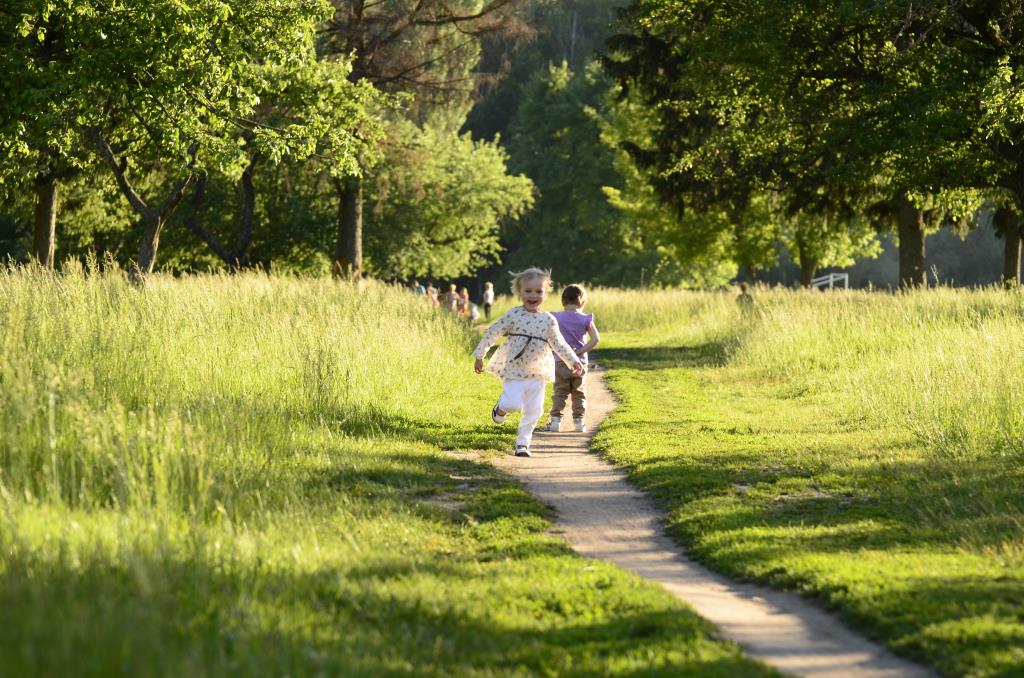
[(692, 612), (617, 608), (622, 578), (595, 589), (577, 569), (564, 585), (531, 584), (529, 561), (519, 579), (498, 581), (458, 563), (283, 571), (136, 554), (130, 571), (94, 563), (30, 575), (13, 562), (0, 602), (19, 623), (0, 628), (0, 672), (600, 675), (625, 665), (635, 668), (616, 675), (770, 675), (713, 647)]

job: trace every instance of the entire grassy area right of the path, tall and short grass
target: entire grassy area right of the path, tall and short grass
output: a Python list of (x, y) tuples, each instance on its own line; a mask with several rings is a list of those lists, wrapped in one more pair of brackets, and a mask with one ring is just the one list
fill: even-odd
[(697, 558), (950, 676), (1024, 675), (1024, 297), (596, 291), (596, 438)]

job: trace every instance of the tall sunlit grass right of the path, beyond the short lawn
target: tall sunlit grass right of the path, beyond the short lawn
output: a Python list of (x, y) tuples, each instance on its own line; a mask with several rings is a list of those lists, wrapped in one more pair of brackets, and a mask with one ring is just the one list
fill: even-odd
[(1024, 453), (1024, 295), (948, 288), (898, 294), (595, 290), (602, 330), (633, 343), (697, 342), (836, 416), (901, 429), (942, 456)]

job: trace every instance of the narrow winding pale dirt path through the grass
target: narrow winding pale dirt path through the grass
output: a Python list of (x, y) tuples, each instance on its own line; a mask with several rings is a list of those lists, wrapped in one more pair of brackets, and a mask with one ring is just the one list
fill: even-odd
[[(600, 372), (588, 378), (588, 426), (614, 408)], [(563, 421), (563, 427), (570, 420)], [(518, 476), (558, 512), (557, 529), (582, 555), (608, 560), (660, 582), (751, 656), (785, 673), (840, 676), (931, 676), (847, 629), (799, 597), (737, 584), (690, 560), (665, 536), (663, 518), (626, 474), (590, 453), (593, 433), (542, 433), (534, 457), (495, 463)]]

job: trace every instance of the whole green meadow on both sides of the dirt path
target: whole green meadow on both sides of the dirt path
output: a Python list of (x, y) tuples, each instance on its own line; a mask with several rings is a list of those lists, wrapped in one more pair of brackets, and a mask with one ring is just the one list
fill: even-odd
[[(596, 450), (715, 568), (1024, 672), (1024, 297), (756, 299), (593, 290)], [(475, 337), (376, 283), (0, 273), (0, 674), (770, 675), (479, 463)]]

